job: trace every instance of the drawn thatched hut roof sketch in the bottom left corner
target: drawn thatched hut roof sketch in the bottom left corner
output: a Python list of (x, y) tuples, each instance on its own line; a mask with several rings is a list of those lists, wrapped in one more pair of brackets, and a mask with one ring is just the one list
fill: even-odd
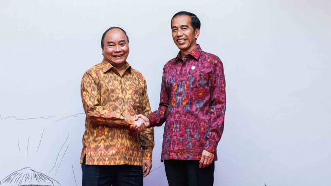
[(61, 186), (48, 176), (31, 168), (24, 168), (11, 173), (0, 182), (0, 186)]

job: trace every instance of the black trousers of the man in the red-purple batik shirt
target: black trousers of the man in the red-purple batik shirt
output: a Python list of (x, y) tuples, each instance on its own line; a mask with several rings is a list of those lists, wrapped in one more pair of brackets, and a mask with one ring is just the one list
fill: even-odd
[(199, 168), (198, 160), (165, 160), (169, 186), (213, 186), (215, 162)]

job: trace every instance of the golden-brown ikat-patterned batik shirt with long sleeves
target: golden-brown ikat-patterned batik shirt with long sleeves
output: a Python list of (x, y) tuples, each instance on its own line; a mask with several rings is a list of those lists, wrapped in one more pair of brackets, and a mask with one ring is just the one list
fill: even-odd
[(148, 116), (147, 86), (140, 72), (125, 62), (125, 72), (103, 60), (85, 72), (81, 95), (86, 113), (81, 163), (87, 165), (142, 165), (152, 160), (154, 129), (129, 129), (134, 116)]

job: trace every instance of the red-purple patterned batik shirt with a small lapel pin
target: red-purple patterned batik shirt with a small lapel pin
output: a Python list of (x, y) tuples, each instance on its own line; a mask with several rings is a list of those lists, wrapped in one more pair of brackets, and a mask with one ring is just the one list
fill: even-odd
[(179, 52), (163, 68), (160, 104), (148, 117), (151, 126), (165, 121), (163, 160), (200, 160), (215, 154), (224, 127), (225, 80), (219, 57), (197, 45), (184, 60)]

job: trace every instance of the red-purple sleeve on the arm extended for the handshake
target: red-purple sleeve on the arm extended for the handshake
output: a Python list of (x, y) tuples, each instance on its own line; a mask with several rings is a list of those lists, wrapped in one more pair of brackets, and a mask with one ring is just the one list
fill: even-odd
[(162, 73), (162, 84), (160, 93), (160, 104), (158, 110), (152, 112), (148, 118), (151, 126), (161, 126), (167, 117), (167, 109), (169, 106), (169, 95), (166, 90), (166, 79), (165, 79), (165, 69), (163, 68)]

